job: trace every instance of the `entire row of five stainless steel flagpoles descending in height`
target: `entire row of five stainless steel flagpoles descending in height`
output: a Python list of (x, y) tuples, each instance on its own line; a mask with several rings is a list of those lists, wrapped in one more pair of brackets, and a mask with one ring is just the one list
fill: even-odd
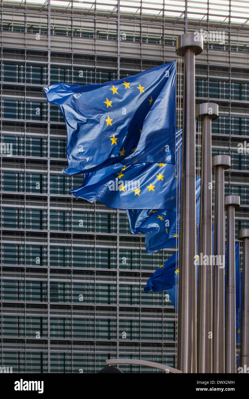
[[(185, 33), (177, 38), (176, 52), (184, 57), (177, 369), (183, 373), (236, 373), (235, 208), (240, 205), (240, 197), (224, 199), (224, 170), (230, 167), (230, 156), (211, 157), (211, 121), (218, 117), (215, 103), (196, 107), (196, 116), (202, 121), (199, 254), (217, 261), (213, 268), (209, 263), (199, 265), (196, 298), (195, 55), (202, 50), (202, 37)], [(215, 168), (213, 251), (212, 166)], [(241, 230), (239, 237), (243, 240), (240, 365), (245, 368), (249, 366), (249, 229)]]

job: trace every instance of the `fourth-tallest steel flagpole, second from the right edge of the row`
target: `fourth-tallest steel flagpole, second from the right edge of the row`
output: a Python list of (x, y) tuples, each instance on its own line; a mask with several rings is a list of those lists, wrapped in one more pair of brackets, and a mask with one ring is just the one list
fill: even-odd
[(227, 208), (225, 373), (236, 373), (235, 207), (240, 206), (240, 197), (225, 197), (225, 206)]

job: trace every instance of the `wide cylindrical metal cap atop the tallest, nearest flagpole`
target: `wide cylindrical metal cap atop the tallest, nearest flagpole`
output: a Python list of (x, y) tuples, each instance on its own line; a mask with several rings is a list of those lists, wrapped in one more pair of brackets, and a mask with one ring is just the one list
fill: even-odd
[(187, 48), (193, 49), (195, 55), (201, 54), (203, 50), (203, 36), (200, 32), (188, 32), (176, 39), (176, 53), (183, 57)]

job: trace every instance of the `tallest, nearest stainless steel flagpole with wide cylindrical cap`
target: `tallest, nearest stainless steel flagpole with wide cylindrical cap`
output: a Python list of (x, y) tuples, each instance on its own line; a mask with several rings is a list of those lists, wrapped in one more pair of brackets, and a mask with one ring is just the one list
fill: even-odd
[(184, 74), (177, 369), (183, 373), (196, 373), (195, 55), (202, 50), (202, 36), (178, 36)]

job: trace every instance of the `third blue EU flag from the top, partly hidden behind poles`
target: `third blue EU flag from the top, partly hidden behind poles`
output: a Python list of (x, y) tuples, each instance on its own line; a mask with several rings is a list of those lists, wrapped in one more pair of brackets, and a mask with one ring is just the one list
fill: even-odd
[[(200, 209), (200, 177), (196, 177), (196, 214), (197, 223)], [(179, 183), (178, 183), (179, 184)], [(177, 184), (177, 185), (178, 185)], [(177, 195), (180, 194), (178, 191)], [(167, 193), (165, 193), (167, 195)], [(163, 248), (177, 246), (180, 213), (161, 209), (126, 209), (131, 233), (145, 234), (147, 254)], [(178, 227), (178, 229), (177, 229)]]

